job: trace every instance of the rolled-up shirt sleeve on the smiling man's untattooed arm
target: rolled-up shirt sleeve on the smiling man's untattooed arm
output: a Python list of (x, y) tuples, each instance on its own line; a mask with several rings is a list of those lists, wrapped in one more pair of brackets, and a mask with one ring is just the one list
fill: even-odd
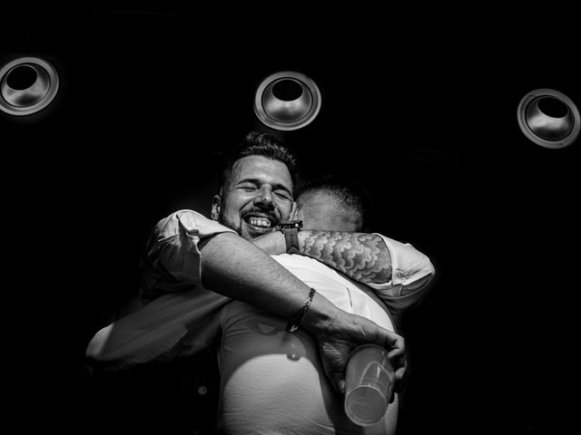
[(199, 245), (204, 238), (224, 232), (235, 233), (193, 210), (179, 210), (160, 220), (143, 257), (143, 301), (193, 287), (202, 288)]

